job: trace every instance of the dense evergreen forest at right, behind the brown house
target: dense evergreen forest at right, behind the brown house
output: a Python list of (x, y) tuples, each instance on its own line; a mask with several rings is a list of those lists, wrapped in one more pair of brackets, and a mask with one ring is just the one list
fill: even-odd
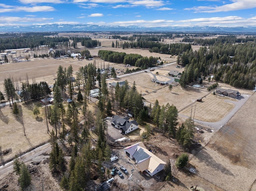
[[(256, 39), (244, 43), (216, 41), (207, 49), (186, 51), (177, 57), (177, 64), (185, 66), (180, 85), (185, 87), (198, 78), (214, 75), (214, 80), (233, 87), (254, 89), (256, 83)], [(210, 80), (210, 79), (209, 79)]]

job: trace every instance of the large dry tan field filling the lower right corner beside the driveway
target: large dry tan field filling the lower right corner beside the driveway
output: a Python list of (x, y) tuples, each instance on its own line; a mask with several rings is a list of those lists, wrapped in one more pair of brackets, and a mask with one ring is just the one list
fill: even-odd
[(256, 190), (256, 94), (190, 163), (226, 190)]

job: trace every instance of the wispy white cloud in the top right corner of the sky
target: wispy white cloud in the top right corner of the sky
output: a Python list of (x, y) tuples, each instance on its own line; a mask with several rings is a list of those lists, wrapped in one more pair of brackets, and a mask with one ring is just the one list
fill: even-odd
[(198, 6), (192, 8), (185, 8), (184, 10), (194, 10), (194, 12), (215, 13), (228, 12), (236, 10), (244, 10), (256, 8), (256, 0), (231, 0), (233, 3), (222, 6)]

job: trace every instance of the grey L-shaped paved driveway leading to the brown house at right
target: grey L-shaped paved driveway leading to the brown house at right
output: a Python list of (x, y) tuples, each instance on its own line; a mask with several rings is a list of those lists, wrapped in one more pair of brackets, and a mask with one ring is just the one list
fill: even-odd
[[(194, 121), (199, 123), (199, 124), (203, 124), (203, 125), (209, 126), (211, 128), (214, 128), (216, 130), (219, 130), (245, 104), (245, 102), (250, 98), (250, 96), (251, 95), (248, 95), (248, 94), (242, 94), (239, 98), (237, 98), (238, 101), (226, 100), (226, 102), (233, 103), (235, 106), (226, 116), (224, 116), (222, 118), (222, 120), (220, 120), (218, 122), (205, 122), (205, 121), (200, 121), (200, 120), (197, 120), (197, 119), (194, 119)], [(217, 109), (217, 108), (212, 108), (212, 109)], [(182, 114), (179, 114), (179, 115), (188, 118), (188, 116), (184, 116)]]

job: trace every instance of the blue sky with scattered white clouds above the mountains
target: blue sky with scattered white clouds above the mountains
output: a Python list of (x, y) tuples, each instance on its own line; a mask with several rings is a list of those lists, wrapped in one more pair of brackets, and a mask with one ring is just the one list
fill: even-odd
[(256, 0), (0, 0), (1, 26), (256, 26)]

